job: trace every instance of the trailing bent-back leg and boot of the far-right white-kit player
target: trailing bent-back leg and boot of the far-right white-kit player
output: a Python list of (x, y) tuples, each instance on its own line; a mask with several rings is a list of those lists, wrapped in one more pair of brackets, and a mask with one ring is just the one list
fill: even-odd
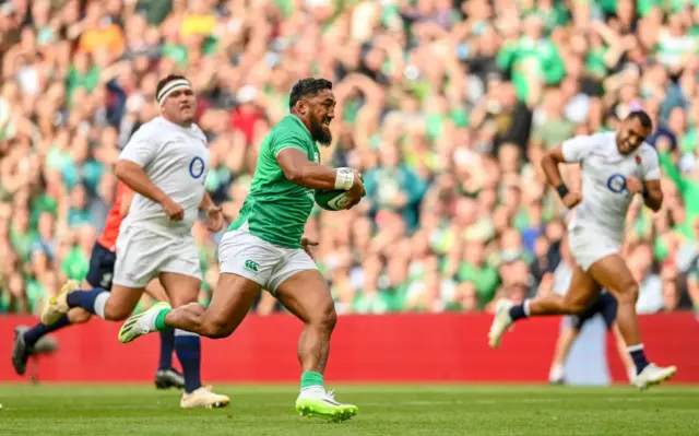
[(495, 317), (488, 332), (491, 347), (500, 345), (500, 339), (516, 321), (536, 316), (576, 315), (585, 310), (601, 287), (582, 268), (576, 266), (570, 281), (570, 287), (565, 296), (549, 294), (546, 296), (528, 298), (521, 305), (501, 299), (495, 310)]

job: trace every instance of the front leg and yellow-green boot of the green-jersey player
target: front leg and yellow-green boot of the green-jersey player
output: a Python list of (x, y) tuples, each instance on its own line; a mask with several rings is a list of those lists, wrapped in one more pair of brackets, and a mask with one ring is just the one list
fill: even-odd
[(356, 405), (339, 403), (333, 392), (325, 392), (323, 387), (330, 337), (337, 321), (323, 276), (318, 270), (299, 271), (282, 282), (275, 295), (305, 325), (298, 339), (298, 361), (303, 374), (296, 410), (305, 416), (331, 421), (344, 421), (356, 415)]

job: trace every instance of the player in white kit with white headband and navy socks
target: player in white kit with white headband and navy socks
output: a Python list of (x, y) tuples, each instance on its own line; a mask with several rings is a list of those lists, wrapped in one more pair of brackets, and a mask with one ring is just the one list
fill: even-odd
[[(56, 322), (72, 307), (106, 320), (123, 320), (156, 278), (173, 306), (198, 301), (202, 274), (192, 225), (200, 210), (206, 212), (211, 232), (218, 232), (224, 219), (204, 189), (209, 149), (193, 122), (197, 98), (191, 84), (181, 75), (168, 75), (157, 84), (155, 95), (161, 116), (133, 133), (116, 165), (117, 177), (135, 195), (116, 243), (111, 292), (81, 291), (69, 282), (44, 309), (44, 325)], [(180, 406), (227, 405), (228, 397), (202, 387), (199, 335), (175, 330), (175, 352), (185, 376)]]

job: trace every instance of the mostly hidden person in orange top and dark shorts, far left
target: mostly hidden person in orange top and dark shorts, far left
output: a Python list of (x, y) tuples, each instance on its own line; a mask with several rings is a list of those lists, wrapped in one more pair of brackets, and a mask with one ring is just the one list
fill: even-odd
[[(111, 290), (111, 280), (114, 278), (114, 267), (117, 260), (116, 243), (119, 235), (119, 226), (121, 221), (129, 213), (133, 191), (123, 182), (117, 185), (117, 195), (109, 213), (102, 235), (95, 241), (90, 257), (90, 270), (83, 281), (84, 290), (102, 287)], [(157, 280), (152, 281), (146, 292), (153, 299), (158, 302), (167, 302), (167, 295)], [(61, 316), (58, 321), (46, 326), (38, 322), (33, 328), (27, 329), (25, 326), (19, 326), (15, 329), (14, 347), (12, 349), (12, 366), (19, 375), (26, 372), (26, 362), (32, 354), (35, 345), (46, 334), (57, 331), (63, 327), (75, 323), (87, 322), (92, 318), (92, 314), (83, 308), (75, 307), (70, 309), (66, 315)], [(158, 389), (167, 389), (170, 387), (183, 388), (185, 378), (176, 369), (173, 368), (173, 351), (175, 347), (175, 331), (173, 329), (161, 332), (161, 358), (155, 373), (155, 386)]]

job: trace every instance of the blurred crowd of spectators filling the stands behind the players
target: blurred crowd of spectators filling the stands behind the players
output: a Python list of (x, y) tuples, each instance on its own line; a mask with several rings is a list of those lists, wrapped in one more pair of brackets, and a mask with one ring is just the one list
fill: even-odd
[[(542, 153), (642, 108), (663, 209), (640, 199), (626, 258), (638, 308), (699, 308), (697, 0), (10, 0), (0, 4), (0, 313), (82, 280), (112, 169), (183, 73), (211, 148), (206, 188), (235, 219), (259, 144), (298, 79), (330, 79), (334, 142), (367, 198), (313, 212), (339, 313), (490, 310), (534, 295), (566, 214)], [(579, 169), (568, 167), (570, 185)], [(194, 228), (205, 280), (221, 235)], [(143, 302), (147, 304), (149, 302)], [(262, 294), (254, 310), (277, 310)]]

